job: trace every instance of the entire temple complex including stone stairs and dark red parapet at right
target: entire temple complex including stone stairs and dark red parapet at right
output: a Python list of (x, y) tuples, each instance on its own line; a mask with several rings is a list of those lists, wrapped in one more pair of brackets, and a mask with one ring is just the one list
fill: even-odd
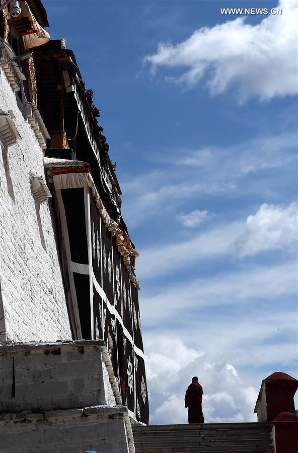
[(93, 92), (48, 25), (40, 0), (0, 0), (0, 453), (295, 453), (281, 372), (256, 423), (148, 426), (138, 253)]

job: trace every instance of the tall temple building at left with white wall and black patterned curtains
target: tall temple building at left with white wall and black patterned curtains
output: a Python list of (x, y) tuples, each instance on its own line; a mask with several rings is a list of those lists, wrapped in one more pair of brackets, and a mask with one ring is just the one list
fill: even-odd
[[(114, 439), (113, 448), (97, 451), (133, 451), (130, 423), (148, 423), (138, 253), (121, 215), (121, 189), (93, 92), (65, 40), (50, 39), (48, 25), (40, 0), (0, 0), (0, 424), (1, 414), (12, 411), (84, 411), (87, 404), (101, 407), (102, 419), (121, 413), (125, 421), (128, 449)], [(46, 375), (42, 357), (51, 358), (47, 375), (59, 387), (59, 360), (64, 357), (64, 377), (72, 379), (86, 351), (102, 368), (94, 362), (93, 381), (85, 376), (84, 388), (97, 379), (104, 398), (92, 401), (87, 392), (76, 406), (80, 385), (71, 380), (71, 392), (52, 389), (47, 403), (29, 391), (22, 399), (24, 385), (45, 382), (36, 377)], [(24, 369), (32, 373), (21, 376)], [(18, 450), (0, 442), (0, 451)]]

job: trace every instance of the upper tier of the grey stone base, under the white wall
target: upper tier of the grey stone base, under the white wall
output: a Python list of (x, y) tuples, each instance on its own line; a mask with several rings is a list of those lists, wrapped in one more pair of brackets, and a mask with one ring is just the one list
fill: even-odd
[(0, 347), (0, 412), (115, 405), (101, 348), (102, 340)]

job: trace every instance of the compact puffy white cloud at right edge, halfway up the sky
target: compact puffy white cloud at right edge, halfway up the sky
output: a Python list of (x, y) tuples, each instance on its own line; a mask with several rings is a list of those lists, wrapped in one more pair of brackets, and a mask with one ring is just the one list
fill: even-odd
[(236, 239), (232, 248), (245, 256), (262, 250), (286, 248), (296, 240), (296, 203), (286, 208), (263, 204), (255, 215), (248, 216), (245, 232)]

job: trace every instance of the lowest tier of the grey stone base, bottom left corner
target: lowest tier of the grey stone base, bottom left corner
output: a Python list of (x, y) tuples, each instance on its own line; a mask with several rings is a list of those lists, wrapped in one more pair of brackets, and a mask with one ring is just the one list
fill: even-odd
[(0, 415), (0, 453), (128, 453), (122, 414), (63, 412), (20, 415), (15, 421)]

